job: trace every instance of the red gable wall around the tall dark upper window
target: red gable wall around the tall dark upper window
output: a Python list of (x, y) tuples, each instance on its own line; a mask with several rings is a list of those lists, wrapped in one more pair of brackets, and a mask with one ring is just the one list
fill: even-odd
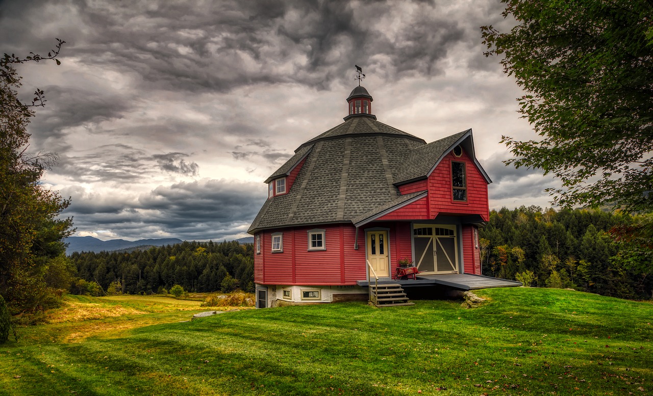
[[(451, 161), (465, 162), (467, 177), (467, 202), (453, 200), (451, 187)], [(447, 154), (428, 177), (428, 196), (430, 214), (481, 215), (484, 221), (490, 220), (488, 207), (488, 186), (478, 168), (463, 152), (458, 158)]]

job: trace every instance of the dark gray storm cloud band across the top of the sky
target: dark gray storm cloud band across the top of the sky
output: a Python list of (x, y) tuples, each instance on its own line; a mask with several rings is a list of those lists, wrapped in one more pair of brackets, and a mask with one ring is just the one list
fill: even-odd
[[(78, 23), (58, 32), (71, 35), (62, 37), (69, 39), (63, 59), (110, 65), (142, 76), (144, 86), (184, 91), (277, 82), (326, 88), (351, 78), (353, 63), (387, 81), (435, 76), (451, 44), (479, 44), (479, 25), (500, 20), (495, 1), (466, 10), (464, 19), (451, 18), (447, 1), (16, 3), (3, 8), (2, 18), (29, 21), (8, 23), (21, 31), (20, 48), (42, 40), (28, 32), (58, 8)], [(481, 18), (492, 7), (495, 20)]]

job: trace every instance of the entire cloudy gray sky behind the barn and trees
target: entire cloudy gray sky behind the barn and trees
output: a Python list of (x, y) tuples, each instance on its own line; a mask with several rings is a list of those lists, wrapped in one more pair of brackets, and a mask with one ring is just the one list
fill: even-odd
[(46, 92), (31, 151), (59, 153), (45, 183), (72, 197), (77, 236), (246, 236), (264, 179), (342, 123), (363, 67), (379, 121), (432, 142), (473, 129), (492, 208), (547, 206), (554, 184), (502, 164), (502, 135), (532, 138), (522, 95), (481, 25), (508, 27), (498, 0), (0, 1), (0, 53), (23, 99)]

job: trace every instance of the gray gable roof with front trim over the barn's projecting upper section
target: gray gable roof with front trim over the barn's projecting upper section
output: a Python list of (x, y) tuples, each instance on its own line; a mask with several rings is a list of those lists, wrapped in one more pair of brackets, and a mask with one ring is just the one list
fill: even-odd
[(408, 155), (406, 162), (402, 165), (398, 176), (394, 179), (394, 185), (402, 185), (411, 181), (426, 179), (436, 169), (436, 166), (438, 166), (445, 155), (459, 144), (470, 155), (471, 160), (479, 169), (485, 181), (488, 184), (492, 183), (492, 180), (490, 180), (490, 177), (476, 159), (471, 129), (468, 129), (413, 149)]

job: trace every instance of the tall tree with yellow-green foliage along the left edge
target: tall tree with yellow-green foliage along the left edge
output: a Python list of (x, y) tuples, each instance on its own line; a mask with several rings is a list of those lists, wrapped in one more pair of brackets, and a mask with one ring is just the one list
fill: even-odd
[[(11, 313), (46, 308), (54, 298), (54, 287), (61, 286), (65, 275), (55, 273), (67, 268), (61, 255), (62, 239), (72, 234), (72, 219), (58, 215), (70, 200), (46, 189), (40, 179), (57, 156), (52, 153), (30, 154), (27, 125), (35, 115), (34, 107), (44, 106), (44, 93), (37, 89), (31, 104), (18, 99), (21, 78), (14, 65), (28, 61), (56, 59), (63, 44), (41, 57), (35, 53), (20, 58), (8, 55), (0, 59), (0, 294)], [(51, 273), (48, 274), (48, 271)], [(48, 279), (57, 285), (48, 284)]]

